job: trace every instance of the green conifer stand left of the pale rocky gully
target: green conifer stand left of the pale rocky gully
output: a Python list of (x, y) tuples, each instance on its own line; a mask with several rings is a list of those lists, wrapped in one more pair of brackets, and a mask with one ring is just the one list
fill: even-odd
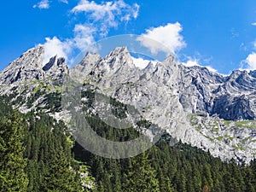
[(65, 125), (0, 102), (0, 191), (83, 191)]

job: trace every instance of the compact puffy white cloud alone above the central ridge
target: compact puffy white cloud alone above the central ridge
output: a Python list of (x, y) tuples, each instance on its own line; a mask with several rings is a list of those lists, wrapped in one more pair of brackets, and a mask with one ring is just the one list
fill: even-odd
[[(164, 51), (167, 54), (170, 52), (175, 53), (186, 46), (183, 36), (180, 34), (182, 30), (183, 28), (178, 22), (174, 24), (168, 23), (166, 26), (147, 29), (146, 33), (143, 33), (137, 40), (150, 49), (152, 54), (157, 54), (160, 51)], [(150, 41), (149, 39), (153, 40)]]

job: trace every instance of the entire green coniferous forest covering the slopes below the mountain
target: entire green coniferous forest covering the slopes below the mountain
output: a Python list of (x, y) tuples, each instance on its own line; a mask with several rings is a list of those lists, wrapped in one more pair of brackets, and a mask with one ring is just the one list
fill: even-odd
[[(110, 140), (139, 135), (115, 130), (97, 117), (88, 121)], [(75, 143), (63, 122), (43, 112), (19, 113), (0, 102), (0, 191), (256, 191), (255, 160), (238, 166), (188, 144), (171, 147), (171, 140), (166, 134), (129, 159), (102, 158)]]

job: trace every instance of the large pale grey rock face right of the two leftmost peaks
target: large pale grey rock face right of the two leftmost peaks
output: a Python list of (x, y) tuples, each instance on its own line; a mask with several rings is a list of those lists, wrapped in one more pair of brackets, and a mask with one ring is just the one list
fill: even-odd
[(235, 71), (226, 77), (206, 67), (184, 67), (173, 56), (141, 70), (127, 49), (117, 48), (106, 58), (86, 55), (70, 73), (135, 106), (177, 140), (223, 160), (253, 159), (255, 71)]

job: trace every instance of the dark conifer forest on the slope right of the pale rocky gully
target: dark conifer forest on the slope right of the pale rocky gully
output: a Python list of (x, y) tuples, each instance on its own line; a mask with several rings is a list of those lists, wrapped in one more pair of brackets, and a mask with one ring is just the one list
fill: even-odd
[[(113, 128), (97, 117), (88, 121), (98, 135), (114, 141), (125, 133), (114, 133)], [(143, 126), (146, 123), (149, 124), (139, 122)], [(138, 137), (138, 131), (127, 133), (125, 139)], [(170, 147), (173, 143), (176, 144)], [(75, 144), (73, 153), (75, 159), (90, 165), (91, 174), (96, 178), (96, 191), (236, 192), (256, 188), (255, 161), (251, 166), (223, 162), (199, 148), (177, 143), (168, 134), (153, 148), (129, 159), (102, 158), (90, 154), (79, 143)]]

